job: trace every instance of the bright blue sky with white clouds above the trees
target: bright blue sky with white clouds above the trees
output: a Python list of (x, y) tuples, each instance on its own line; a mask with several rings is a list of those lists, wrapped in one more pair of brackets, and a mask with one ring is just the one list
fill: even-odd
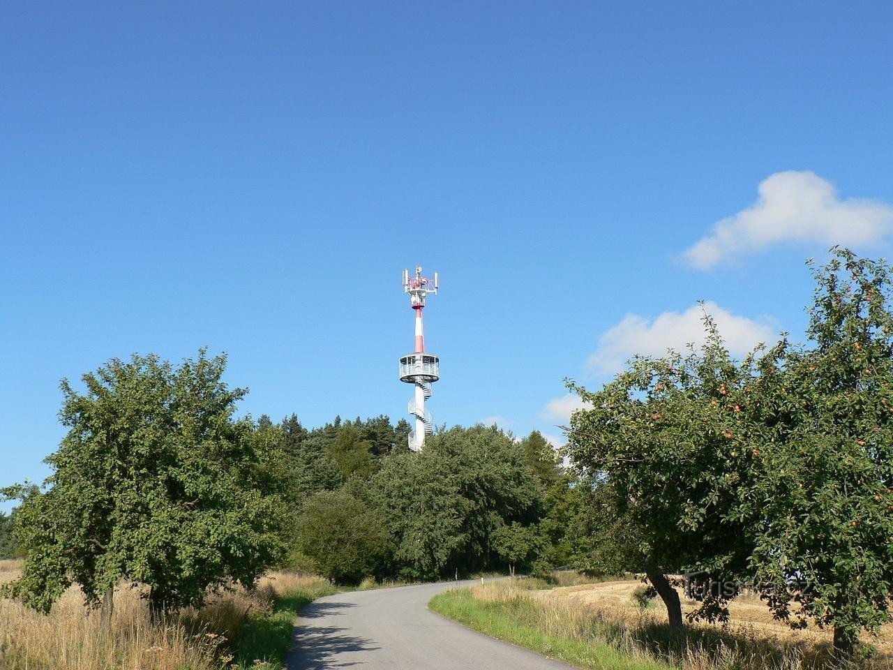
[(890, 252), (891, 21), (5, 4), (0, 483), (46, 476), (61, 378), (132, 352), (227, 352), (255, 416), (396, 420), (417, 263), (438, 423), (559, 437), (564, 377), (687, 341), (699, 299), (736, 347), (799, 336), (806, 257)]

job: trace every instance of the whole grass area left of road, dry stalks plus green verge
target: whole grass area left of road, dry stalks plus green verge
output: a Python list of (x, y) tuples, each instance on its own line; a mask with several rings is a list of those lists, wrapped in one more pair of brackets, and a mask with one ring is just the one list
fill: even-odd
[[(0, 561), (0, 583), (15, 579), (21, 562)], [(114, 616), (104, 632), (98, 610), (84, 607), (72, 587), (48, 616), (0, 599), (3, 670), (276, 670), (288, 649), (296, 612), (334, 592), (320, 577), (264, 576), (255, 590), (213, 594), (200, 609), (153, 622), (141, 591), (115, 593)]]

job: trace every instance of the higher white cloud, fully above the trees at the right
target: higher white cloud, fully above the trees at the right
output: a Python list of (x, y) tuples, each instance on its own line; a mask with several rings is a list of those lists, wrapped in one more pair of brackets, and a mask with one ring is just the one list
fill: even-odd
[(708, 235), (686, 250), (689, 264), (709, 270), (785, 241), (876, 245), (893, 230), (893, 206), (841, 200), (834, 185), (814, 172), (775, 172), (758, 190), (754, 205), (714, 223)]

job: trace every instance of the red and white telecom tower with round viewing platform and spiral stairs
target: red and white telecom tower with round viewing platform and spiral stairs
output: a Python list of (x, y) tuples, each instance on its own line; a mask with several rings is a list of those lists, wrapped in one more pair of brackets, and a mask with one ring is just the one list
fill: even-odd
[(400, 381), (415, 384), (415, 398), (409, 401), (409, 414), (415, 417), (415, 430), (409, 435), (409, 448), (421, 451), (425, 435), (434, 430), (430, 412), (425, 409), (425, 400), (431, 397), (431, 384), (440, 379), (440, 361), (437, 356), (425, 351), (425, 330), (421, 312), (425, 308), (425, 298), (438, 292), (438, 273), (434, 281), (421, 276), (421, 265), (415, 266), (415, 276), (403, 271), (403, 290), (409, 294), (409, 304), (415, 312), (415, 350), (400, 358)]

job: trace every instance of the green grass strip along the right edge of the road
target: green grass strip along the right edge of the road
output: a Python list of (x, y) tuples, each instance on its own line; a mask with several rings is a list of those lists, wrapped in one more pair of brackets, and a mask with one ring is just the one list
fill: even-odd
[[(521, 584), (518, 588), (497, 583), (491, 588), (497, 586), (522, 594), (524, 590), (542, 588), (545, 582), (523, 580)], [(544, 621), (532, 599), (521, 596), (501, 601), (482, 600), (474, 596), (474, 590), (478, 589), (480, 587), (444, 591), (431, 599), (429, 607), (476, 631), (573, 666), (598, 670), (667, 670), (672, 667), (652, 658), (630, 655), (628, 651), (591, 636), (573, 636), (555, 630), (554, 625)]]

